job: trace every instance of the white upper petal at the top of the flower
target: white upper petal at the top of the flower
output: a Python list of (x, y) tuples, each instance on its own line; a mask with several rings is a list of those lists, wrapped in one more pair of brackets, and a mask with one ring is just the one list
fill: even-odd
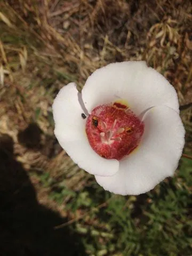
[(142, 111), (165, 105), (179, 113), (174, 87), (145, 61), (111, 63), (95, 70), (87, 79), (82, 97), (87, 110), (117, 98), (127, 100), (136, 115)]

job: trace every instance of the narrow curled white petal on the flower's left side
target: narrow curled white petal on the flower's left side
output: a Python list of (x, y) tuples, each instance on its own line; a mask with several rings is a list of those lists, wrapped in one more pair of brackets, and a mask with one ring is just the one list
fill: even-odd
[(104, 159), (91, 148), (85, 133), (83, 110), (75, 83), (64, 86), (53, 103), (55, 136), (61, 147), (79, 167), (91, 174), (114, 175), (119, 168), (115, 159)]

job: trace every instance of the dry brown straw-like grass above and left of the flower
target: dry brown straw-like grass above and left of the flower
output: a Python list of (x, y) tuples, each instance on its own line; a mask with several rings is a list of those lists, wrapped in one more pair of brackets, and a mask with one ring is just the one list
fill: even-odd
[[(9, 0), (0, 10), (1, 133), (13, 138), (15, 157), (30, 174), (49, 173), (57, 186), (65, 179), (76, 191), (90, 181), (55, 140), (51, 106), (63, 84), (75, 81), (81, 90), (109, 62), (145, 60), (175, 87), (181, 106), (192, 101), (188, 0)], [(190, 154), (192, 109), (182, 109)], [(49, 189), (31, 179), (43, 200)]]

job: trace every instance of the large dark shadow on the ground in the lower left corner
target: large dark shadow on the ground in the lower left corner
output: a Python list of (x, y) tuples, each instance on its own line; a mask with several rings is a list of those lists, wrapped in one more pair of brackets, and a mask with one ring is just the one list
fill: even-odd
[(1, 255), (86, 255), (81, 237), (67, 220), (39, 204), (30, 179), (13, 156), (13, 140), (0, 137), (0, 252)]

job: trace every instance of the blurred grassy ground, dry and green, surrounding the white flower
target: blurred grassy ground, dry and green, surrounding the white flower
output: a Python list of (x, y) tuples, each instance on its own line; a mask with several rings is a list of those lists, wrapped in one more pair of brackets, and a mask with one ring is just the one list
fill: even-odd
[[(192, 3), (0, 1), (0, 254), (190, 256)], [(104, 191), (54, 137), (59, 89), (110, 62), (145, 60), (178, 93), (178, 170), (139, 196)]]

